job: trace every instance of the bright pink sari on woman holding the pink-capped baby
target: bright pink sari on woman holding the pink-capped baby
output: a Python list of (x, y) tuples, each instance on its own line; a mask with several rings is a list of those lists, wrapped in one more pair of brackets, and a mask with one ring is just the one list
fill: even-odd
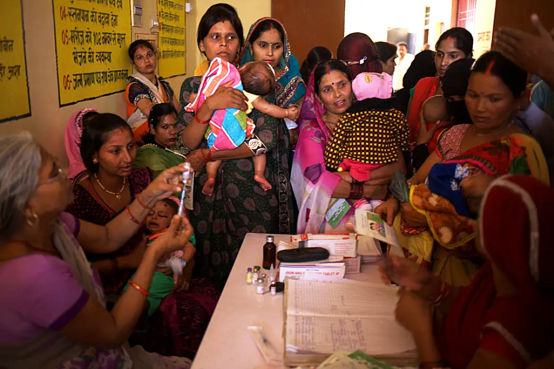
[(299, 207), (298, 233), (318, 233), (325, 228), (331, 195), (341, 180), (325, 170), (324, 152), (330, 132), (323, 122), (323, 113), (325, 108), (315, 96), (312, 73), (301, 108), (300, 134), (290, 175)]

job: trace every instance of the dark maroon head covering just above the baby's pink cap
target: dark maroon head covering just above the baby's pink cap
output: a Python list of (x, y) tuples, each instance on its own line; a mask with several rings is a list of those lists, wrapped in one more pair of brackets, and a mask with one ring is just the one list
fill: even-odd
[(360, 61), (360, 64), (348, 66), (352, 78), (362, 72), (383, 72), (383, 66), (379, 63), (377, 47), (371, 38), (363, 33), (351, 33), (338, 44), (337, 59), (347, 61)]

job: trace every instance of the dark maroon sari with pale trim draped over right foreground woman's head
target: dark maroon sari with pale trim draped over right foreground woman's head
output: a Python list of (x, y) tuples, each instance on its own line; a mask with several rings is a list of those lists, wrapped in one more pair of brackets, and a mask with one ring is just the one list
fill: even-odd
[[(552, 207), (553, 190), (530, 176), (503, 176), (486, 190), (479, 237), (488, 261), (435, 325), (435, 342), (453, 369), (468, 367), (477, 350), (522, 369), (551, 351)], [(517, 292), (497, 293), (493, 264)]]

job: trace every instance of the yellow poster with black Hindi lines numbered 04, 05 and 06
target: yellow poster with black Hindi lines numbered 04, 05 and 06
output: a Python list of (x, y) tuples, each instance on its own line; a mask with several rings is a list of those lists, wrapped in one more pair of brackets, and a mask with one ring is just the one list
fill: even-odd
[(60, 106), (124, 91), (129, 0), (52, 0)]

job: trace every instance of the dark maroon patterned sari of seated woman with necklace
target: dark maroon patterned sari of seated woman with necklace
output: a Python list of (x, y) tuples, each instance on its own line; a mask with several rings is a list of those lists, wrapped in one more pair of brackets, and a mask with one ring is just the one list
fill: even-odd
[[(89, 177), (90, 178), (90, 177)], [(152, 172), (147, 168), (134, 168), (129, 177), (132, 200), (146, 188), (152, 180)], [(117, 215), (102, 205), (98, 195), (91, 195), (83, 185), (75, 184), (75, 200), (68, 212), (94, 224), (105, 225)], [(132, 201), (131, 200), (131, 201)], [(137, 232), (123, 247), (112, 254), (88, 254), (90, 261), (131, 253), (142, 241), (142, 232)], [(107, 294), (121, 294), (132, 270), (117, 271), (101, 276)], [(177, 355), (193, 358), (200, 346), (209, 320), (216, 308), (219, 292), (207, 279), (193, 278), (187, 291), (172, 292), (162, 300), (160, 308), (150, 318), (148, 350), (161, 355)], [(142, 343), (142, 342), (141, 342)]]

